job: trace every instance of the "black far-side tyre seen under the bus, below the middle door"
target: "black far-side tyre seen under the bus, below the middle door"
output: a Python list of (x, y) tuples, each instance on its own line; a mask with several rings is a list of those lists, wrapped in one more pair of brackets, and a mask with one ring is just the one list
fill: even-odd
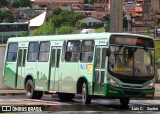
[(58, 97), (62, 101), (71, 101), (75, 97), (75, 94), (73, 94), (73, 93), (58, 93)]

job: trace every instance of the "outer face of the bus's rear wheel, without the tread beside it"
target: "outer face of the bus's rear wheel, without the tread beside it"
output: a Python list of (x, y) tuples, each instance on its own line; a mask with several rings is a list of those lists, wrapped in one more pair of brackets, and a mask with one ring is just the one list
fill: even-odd
[(35, 92), (33, 88), (33, 81), (29, 79), (26, 83), (26, 96), (29, 99), (35, 98)]

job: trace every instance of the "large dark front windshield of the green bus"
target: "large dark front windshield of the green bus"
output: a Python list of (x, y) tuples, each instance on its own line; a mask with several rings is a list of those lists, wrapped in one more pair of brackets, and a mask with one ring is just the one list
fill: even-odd
[(153, 76), (154, 50), (146, 48), (110, 46), (109, 70), (126, 76)]

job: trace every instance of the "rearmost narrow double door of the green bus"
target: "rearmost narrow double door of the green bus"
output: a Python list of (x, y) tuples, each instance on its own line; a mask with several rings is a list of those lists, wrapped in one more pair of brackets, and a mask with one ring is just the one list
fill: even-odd
[(26, 48), (19, 48), (18, 50), (18, 71), (17, 71), (17, 89), (24, 88), (24, 75), (25, 75), (25, 59), (26, 59)]

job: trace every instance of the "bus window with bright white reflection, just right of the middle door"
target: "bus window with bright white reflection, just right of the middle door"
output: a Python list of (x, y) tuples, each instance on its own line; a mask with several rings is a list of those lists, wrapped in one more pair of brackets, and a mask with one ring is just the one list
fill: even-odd
[(67, 50), (65, 54), (65, 61), (71, 61), (71, 62), (79, 61), (80, 46), (81, 42), (79, 40), (68, 41)]

